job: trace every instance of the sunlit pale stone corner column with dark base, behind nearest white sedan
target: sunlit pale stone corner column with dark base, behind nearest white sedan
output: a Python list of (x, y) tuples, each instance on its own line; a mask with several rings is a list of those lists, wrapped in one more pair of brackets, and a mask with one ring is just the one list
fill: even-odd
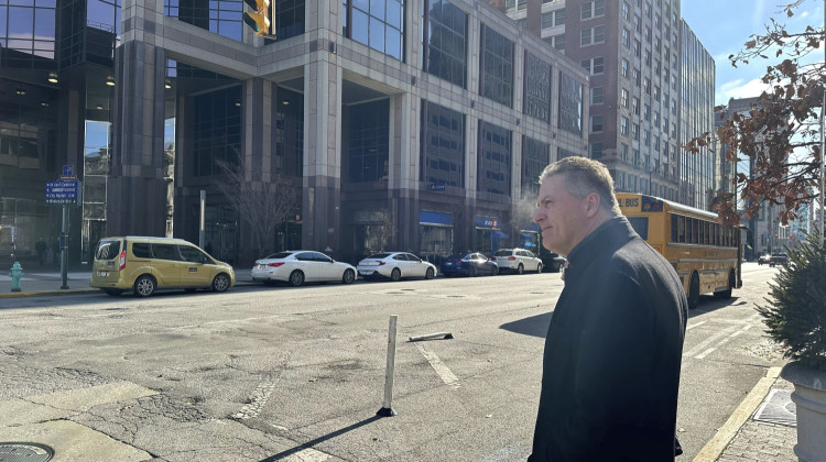
[(341, 237), (341, 69), (326, 61), (304, 66), (302, 243), (338, 252)]

